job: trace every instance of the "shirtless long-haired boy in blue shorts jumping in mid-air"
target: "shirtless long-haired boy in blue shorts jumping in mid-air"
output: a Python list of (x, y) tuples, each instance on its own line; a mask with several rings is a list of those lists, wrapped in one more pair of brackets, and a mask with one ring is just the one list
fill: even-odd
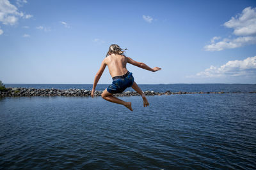
[(138, 87), (137, 83), (134, 81), (132, 73), (130, 73), (126, 69), (127, 62), (134, 66), (147, 69), (148, 71), (156, 72), (158, 70), (161, 70), (161, 68), (159, 67), (151, 68), (143, 62), (137, 62), (135, 60), (132, 60), (130, 57), (126, 57), (124, 55), (124, 50), (120, 48), (120, 46), (113, 44), (109, 46), (106, 58), (102, 61), (100, 69), (95, 76), (91, 96), (94, 96), (95, 88), (100, 79), (100, 76), (102, 75), (105, 67), (108, 66), (109, 73), (113, 79), (113, 82), (101, 94), (102, 98), (113, 103), (122, 104), (125, 107), (129, 108), (129, 110), (133, 111), (131, 102), (125, 102), (113, 96), (113, 94), (124, 92), (127, 87), (132, 87), (132, 89), (136, 90), (141, 95), (143, 99), (143, 106), (147, 107), (149, 105), (147, 98), (143, 94), (140, 87)]

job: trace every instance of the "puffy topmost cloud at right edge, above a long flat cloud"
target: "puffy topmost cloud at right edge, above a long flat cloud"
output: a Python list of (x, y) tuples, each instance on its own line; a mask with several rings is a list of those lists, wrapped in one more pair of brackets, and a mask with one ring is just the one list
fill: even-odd
[(232, 17), (224, 24), (234, 29), (237, 36), (253, 36), (256, 34), (256, 8), (244, 8), (241, 14)]

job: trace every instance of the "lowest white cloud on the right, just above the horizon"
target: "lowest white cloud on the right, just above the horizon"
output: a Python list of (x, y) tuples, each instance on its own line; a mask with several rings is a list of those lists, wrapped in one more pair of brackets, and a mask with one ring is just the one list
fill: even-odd
[[(255, 76), (256, 56), (244, 60), (231, 60), (220, 67), (211, 66), (205, 71), (197, 73), (199, 77), (225, 77), (225, 76)], [(195, 76), (194, 76), (195, 77)]]

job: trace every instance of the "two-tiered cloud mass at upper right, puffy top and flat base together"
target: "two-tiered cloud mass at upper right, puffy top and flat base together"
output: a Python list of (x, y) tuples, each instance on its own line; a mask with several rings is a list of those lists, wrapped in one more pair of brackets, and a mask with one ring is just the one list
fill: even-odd
[[(234, 29), (236, 38), (214, 37), (210, 45), (205, 45), (206, 51), (221, 51), (227, 48), (238, 48), (245, 45), (256, 44), (256, 8), (244, 8), (241, 14), (232, 17), (223, 24)], [(221, 39), (221, 41), (216, 41)]]

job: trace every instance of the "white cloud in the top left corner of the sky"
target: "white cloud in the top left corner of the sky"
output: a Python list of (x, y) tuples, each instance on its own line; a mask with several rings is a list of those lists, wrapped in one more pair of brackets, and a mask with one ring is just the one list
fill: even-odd
[(24, 15), (16, 6), (8, 0), (0, 0), (0, 22), (5, 25), (17, 24), (20, 17), (31, 18), (32, 15)]

